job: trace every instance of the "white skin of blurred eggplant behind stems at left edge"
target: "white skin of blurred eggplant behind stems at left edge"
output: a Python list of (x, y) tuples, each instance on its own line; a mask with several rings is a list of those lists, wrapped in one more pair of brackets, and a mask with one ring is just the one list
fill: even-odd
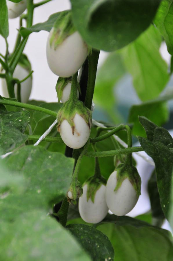
[[(23, 80), (27, 75), (29, 74), (29, 71), (24, 69), (22, 66), (19, 64), (16, 66), (14, 73), (13, 73), (13, 78), (17, 78), (20, 81)], [(7, 90), (7, 84), (5, 79), (1, 79), (2, 82), (2, 96), (9, 98), (8, 95), (8, 90)], [(23, 81), (21, 83), (21, 102), (27, 103), (30, 97), (32, 89), (32, 77), (29, 77), (26, 79), (26, 81)], [(17, 84), (14, 85), (14, 93), (15, 97), (17, 97)]]

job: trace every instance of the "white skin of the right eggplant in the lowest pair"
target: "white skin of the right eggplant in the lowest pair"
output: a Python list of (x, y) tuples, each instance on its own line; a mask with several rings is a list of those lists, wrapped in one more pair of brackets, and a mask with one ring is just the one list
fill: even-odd
[(121, 187), (116, 187), (116, 171), (112, 172), (106, 184), (106, 203), (114, 215), (123, 216), (129, 213), (138, 201), (136, 191), (130, 181), (125, 179)]

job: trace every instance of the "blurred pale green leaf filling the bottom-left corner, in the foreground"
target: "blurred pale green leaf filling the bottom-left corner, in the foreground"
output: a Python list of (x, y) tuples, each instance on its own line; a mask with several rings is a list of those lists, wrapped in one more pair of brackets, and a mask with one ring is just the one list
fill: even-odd
[(90, 261), (70, 233), (44, 211), (35, 209), (13, 223), (1, 223), (0, 259)]

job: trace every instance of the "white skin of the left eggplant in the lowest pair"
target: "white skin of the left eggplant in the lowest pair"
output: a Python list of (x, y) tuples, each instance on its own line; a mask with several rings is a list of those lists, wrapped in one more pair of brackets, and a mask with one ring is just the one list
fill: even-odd
[(108, 213), (105, 200), (106, 186), (101, 185), (96, 191), (94, 203), (91, 198), (87, 202), (87, 187), (88, 184), (83, 186), (83, 195), (79, 198), (79, 213), (85, 222), (96, 224), (101, 222)]

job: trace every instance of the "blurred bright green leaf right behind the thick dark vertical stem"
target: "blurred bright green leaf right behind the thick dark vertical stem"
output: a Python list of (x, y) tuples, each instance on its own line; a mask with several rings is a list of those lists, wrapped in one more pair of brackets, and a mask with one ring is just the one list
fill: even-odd
[(96, 76), (94, 88), (94, 103), (104, 109), (113, 122), (117, 122), (117, 114), (114, 111), (116, 98), (114, 86), (125, 73), (121, 56), (112, 52), (105, 60)]

